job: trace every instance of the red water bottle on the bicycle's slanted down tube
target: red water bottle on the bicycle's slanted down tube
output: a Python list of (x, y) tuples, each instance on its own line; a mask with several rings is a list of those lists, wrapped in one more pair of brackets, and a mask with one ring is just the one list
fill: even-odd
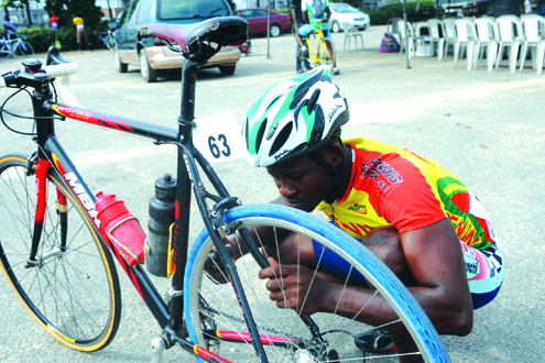
[(117, 257), (120, 255), (130, 266), (143, 263), (145, 233), (124, 202), (112, 194), (99, 191), (95, 209), (100, 221), (100, 234), (111, 241)]

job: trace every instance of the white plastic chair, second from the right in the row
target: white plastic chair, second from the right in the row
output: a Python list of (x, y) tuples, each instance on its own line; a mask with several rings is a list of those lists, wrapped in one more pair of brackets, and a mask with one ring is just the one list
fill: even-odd
[[(500, 50), (495, 61), (495, 70), (503, 58), (503, 50), (509, 46), (509, 69), (514, 73), (516, 69), (516, 57), (519, 56), (519, 46), (524, 42), (522, 24), (515, 15), (501, 15), (497, 19), (498, 34), (500, 35)], [(516, 31), (516, 34), (515, 34)]]

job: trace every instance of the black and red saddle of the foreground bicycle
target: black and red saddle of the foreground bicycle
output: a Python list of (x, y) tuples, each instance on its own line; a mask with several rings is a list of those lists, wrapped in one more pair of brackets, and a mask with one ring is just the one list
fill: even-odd
[[(137, 40), (140, 42), (155, 36), (176, 42), (185, 58), (206, 64), (221, 47), (242, 44), (248, 37), (248, 23), (239, 16), (218, 16), (193, 26), (149, 24), (140, 29)], [(218, 46), (214, 47), (210, 43)]]

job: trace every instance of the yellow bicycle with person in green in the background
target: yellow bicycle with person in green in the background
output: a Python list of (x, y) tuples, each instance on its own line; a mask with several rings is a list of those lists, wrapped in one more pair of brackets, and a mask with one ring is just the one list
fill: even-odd
[[(306, 35), (302, 34), (302, 36), (305, 38), (304, 42), (308, 48), (308, 58), (302, 54), (301, 62), (308, 61), (313, 67), (326, 65), (331, 74), (338, 75), (340, 72), (337, 68), (337, 52), (331, 38), (324, 35), (325, 24), (327, 24), (327, 20), (315, 21), (313, 25), (303, 25), (299, 29), (299, 32), (306, 33)], [(313, 40), (310, 40), (310, 36)]]

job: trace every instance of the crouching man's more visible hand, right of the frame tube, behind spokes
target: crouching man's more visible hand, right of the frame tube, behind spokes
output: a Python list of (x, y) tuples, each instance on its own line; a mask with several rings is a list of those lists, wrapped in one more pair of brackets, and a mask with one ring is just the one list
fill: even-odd
[(306, 315), (321, 311), (321, 301), (327, 299), (329, 284), (302, 265), (279, 265), (269, 257), (271, 267), (261, 270), (259, 278), (268, 279), (269, 297), (281, 309), (293, 309)]

